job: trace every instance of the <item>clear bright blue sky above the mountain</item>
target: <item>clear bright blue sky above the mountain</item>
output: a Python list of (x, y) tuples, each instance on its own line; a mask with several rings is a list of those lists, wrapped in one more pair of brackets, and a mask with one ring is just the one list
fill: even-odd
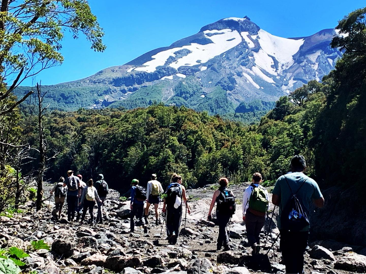
[[(80, 37), (66, 35), (61, 66), (46, 69), (22, 85), (78, 80), (109, 66), (123, 65), (157, 47), (195, 34), (206, 24), (227, 17), (248, 16), (262, 29), (281, 37), (300, 37), (333, 28), (365, 0), (89, 0), (104, 28), (107, 50), (96, 53)], [(107, 3), (107, 4), (106, 4)]]

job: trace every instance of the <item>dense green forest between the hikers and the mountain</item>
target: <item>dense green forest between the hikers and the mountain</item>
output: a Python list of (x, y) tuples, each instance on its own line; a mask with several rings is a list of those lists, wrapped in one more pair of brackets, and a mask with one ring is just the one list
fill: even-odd
[[(254, 125), (161, 103), (127, 111), (51, 111), (38, 107), (41, 87), (28, 104), (16, 104), (8, 94), (0, 100), (0, 210), (17, 204), (16, 197), (40, 174), (41, 182), (55, 182), (70, 169), (88, 179), (102, 173), (121, 194), (131, 179), (146, 183), (152, 173), (166, 185), (178, 172), (194, 188), (216, 183), (220, 176), (247, 182), (253, 172), (261, 172), (270, 185), (289, 171), (291, 157), (299, 153), (306, 158), (307, 175), (321, 188), (351, 184), (361, 197), (366, 8), (345, 16), (336, 28), (347, 35), (331, 43), (344, 51), (335, 70), (321, 83), (309, 81), (281, 97)], [(14, 107), (8, 111), (9, 106)]]

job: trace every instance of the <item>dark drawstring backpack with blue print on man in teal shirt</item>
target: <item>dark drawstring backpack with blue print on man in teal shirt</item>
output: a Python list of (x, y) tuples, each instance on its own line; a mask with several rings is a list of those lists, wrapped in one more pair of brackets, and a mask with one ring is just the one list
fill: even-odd
[(300, 231), (303, 228), (310, 225), (310, 222), (309, 219), (307, 218), (306, 213), (303, 211), (301, 203), (299, 199), (296, 197), (296, 194), (299, 192), (301, 187), (305, 184), (306, 180), (309, 178), (304, 180), (304, 182), (298, 188), (298, 190), (295, 193), (293, 193), (290, 184), (288, 184), (287, 182), (286, 176), (284, 177), (288, 187), (291, 190), (292, 195), (290, 199), (288, 199), (285, 207), (282, 210), (281, 228), (287, 231)]

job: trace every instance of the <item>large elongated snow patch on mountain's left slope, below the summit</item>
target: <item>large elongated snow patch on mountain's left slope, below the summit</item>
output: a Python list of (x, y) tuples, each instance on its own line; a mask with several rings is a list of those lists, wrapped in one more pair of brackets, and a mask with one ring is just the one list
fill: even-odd
[[(215, 56), (220, 55), (232, 49), (236, 45), (238, 45), (242, 39), (238, 31), (231, 30), (229, 28), (225, 28), (223, 30), (206, 30), (203, 32), (207, 33), (221, 33), (215, 34), (212, 36), (205, 35), (206, 38), (210, 39), (213, 43), (209, 43), (207, 45), (201, 45), (198, 43), (191, 43), (191, 45), (183, 46), (183, 47), (175, 47), (173, 49), (164, 50), (162, 52), (158, 52), (153, 55), (153, 60), (147, 61), (143, 64), (142, 67), (136, 68), (136, 71), (146, 71), (146, 72), (154, 72), (156, 71), (157, 66), (163, 66), (169, 56), (175, 57), (174, 52), (177, 52), (181, 49), (188, 49), (191, 53), (179, 58), (178, 61), (170, 64), (172, 68), (178, 69), (180, 66), (184, 66), (186, 64), (190, 64), (189, 66), (198, 65), (200, 63), (205, 63), (208, 60), (214, 58)], [(232, 38), (235, 38), (231, 41)], [(201, 60), (200, 63), (197, 60)]]

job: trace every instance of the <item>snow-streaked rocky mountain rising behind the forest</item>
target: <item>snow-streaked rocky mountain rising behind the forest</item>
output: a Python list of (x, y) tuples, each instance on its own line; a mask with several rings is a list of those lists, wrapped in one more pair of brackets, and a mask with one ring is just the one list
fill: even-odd
[[(335, 29), (326, 29), (309, 37), (282, 38), (248, 17), (225, 18), (125, 65), (43, 90), (56, 109), (130, 109), (156, 101), (210, 114), (245, 113), (250, 107), (242, 107), (243, 102), (259, 100), (263, 106), (327, 75), (342, 56), (329, 46), (335, 35)], [(16, 94), (27, 90), (20, 87)]]

